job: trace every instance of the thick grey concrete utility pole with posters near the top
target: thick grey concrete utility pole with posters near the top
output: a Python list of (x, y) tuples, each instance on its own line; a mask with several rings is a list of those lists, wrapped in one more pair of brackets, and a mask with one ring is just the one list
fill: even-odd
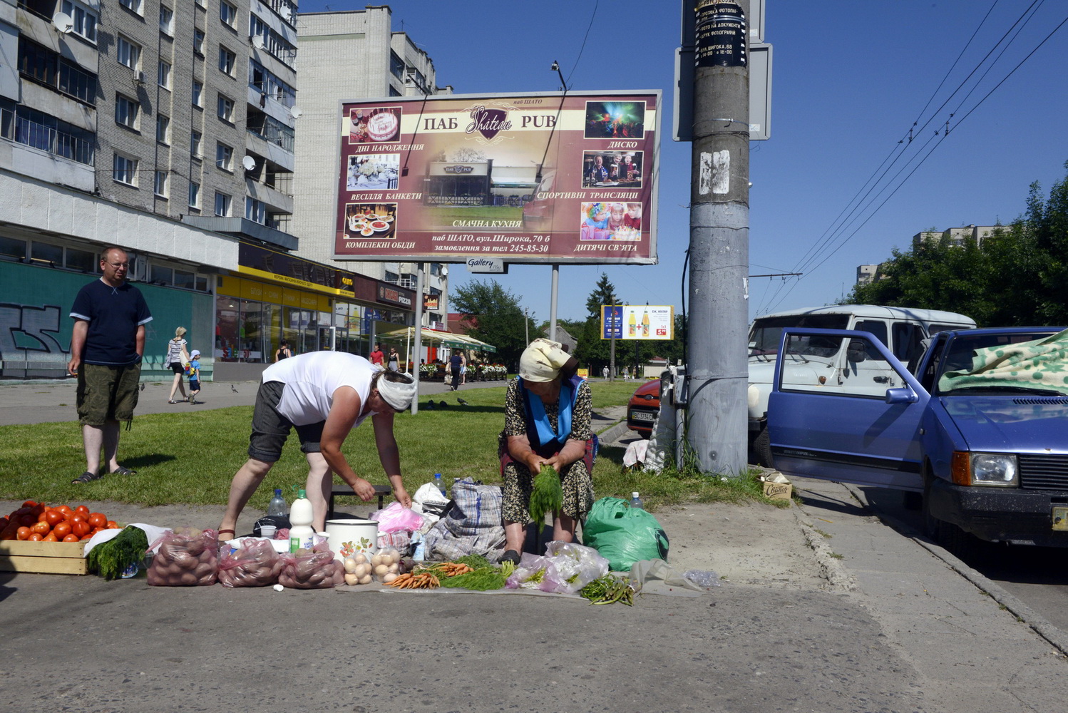
[(739, 2), (693, 9), (687, 442), (702, 471), (738, 475), (748, 455), (748, 33)]

